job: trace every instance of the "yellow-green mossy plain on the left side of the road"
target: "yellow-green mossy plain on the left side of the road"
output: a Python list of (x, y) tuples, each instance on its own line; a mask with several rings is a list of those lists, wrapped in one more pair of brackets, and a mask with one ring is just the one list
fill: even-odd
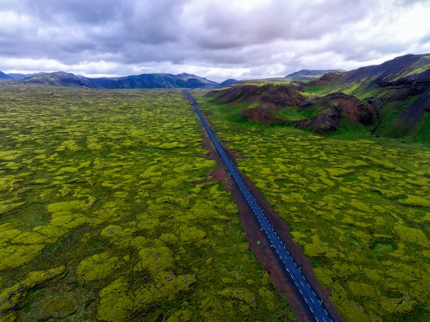
[(0, 89), (1, 321), (294, 321), (181, 91)]

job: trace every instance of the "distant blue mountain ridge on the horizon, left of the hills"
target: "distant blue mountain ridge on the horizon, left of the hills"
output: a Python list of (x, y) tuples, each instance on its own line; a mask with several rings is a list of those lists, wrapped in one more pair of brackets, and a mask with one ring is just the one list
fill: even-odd
[(22, 84), (46, 84), (65, 87), (87, 87), (90, 89), (172, 89), (172, 88), (215, 88), (212, 82), (186, 73), (171, 75), (166, 73), (142, 74), (122, 78), (84, 78), (58, 71), (44, 73), (19, 81)]

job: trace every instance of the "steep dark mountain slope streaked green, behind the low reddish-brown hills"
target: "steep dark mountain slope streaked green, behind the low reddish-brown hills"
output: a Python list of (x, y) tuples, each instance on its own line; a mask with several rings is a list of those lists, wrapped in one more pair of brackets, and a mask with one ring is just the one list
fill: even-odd
[[(430, 55), (406, 55), (381, 65), (346, 73), (328, 73), (304, 84), (312, 93), (355, 95), (378, 113), (373, 129), (389, 137), (417, 137), (430, 132)], [(421, 134), (420, 134), (421, 133)], [(430, 139), (430, 135), (427, 138)]]

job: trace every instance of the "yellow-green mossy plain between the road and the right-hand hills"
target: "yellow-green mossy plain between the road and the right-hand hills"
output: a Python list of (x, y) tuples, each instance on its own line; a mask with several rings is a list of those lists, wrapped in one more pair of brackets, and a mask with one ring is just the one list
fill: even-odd
[(236, 122), (193, 94), (346, 321), (428, 321), (429, 148)]

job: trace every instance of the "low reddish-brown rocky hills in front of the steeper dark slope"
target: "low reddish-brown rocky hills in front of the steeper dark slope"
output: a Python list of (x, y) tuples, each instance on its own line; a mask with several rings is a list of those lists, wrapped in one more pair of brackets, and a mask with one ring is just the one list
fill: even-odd
[(344, 93), (308, 97), (299, 84), (244, 84), (208, 95), (227, 110), (241, 106), (237, 119), (295, 125), (321, 134), (339, 129), (342, 119), (357, 125), (371, 125), (376, 119), (372, 106), (357, 97)]

